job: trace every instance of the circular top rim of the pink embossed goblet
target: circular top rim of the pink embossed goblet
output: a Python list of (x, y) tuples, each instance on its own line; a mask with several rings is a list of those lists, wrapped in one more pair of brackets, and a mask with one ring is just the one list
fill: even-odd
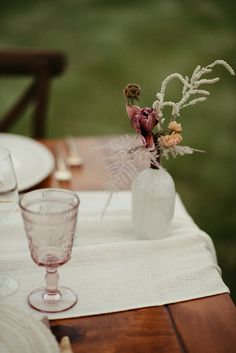
[[(28, 196), (31, 196), (33, 194), (38, 194), (38, 193), (43, 193), (44, 191), (55, 191), (55, 192), (58, 192), (58, 193), (64, 193), (64, 194), (68, 194), (68, 195), (71, 195), (75, 198), (76, 200), (76, 203), (75, 205), (71, 206), (70, 210), (69, 211), (73, 211), (74, 209), (76, 209), (79, 204), (80, 204), (80, 199), (79, 199), (79, 196), (74, 192), (74, 191), (71, 191), (71, 190), (67, 190), (67, 189), (56, 189), (56, 188), (45, 188), (45, 189), (37, 189), (37, 190), (33, 190), (33, 191), (29, 191), (25, 194), (23, 194), (21, 197), (20, 197), (20, 200), (19, 200), (19, 206), (20, 208), (24, 211), (24, 212), (27, 212), (27, 213), (30, 213), (30, 214), (38, 214), (38, 212), (35, 212), (35, 211), (31, 211), (27, 208), (27, 206), (24, 206), (23, 205), (23, 201), (28, 197)], [(64, 214), (65, 212), (68, 212), (67, 211), (61, 211), (61, 212), (55, 212), (54, 214)]]

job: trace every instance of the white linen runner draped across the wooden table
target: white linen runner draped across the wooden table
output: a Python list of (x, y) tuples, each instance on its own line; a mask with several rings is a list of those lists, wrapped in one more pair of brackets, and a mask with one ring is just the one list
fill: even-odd
[[(108, 194), (79, 192), (79, 197), (72, 258), (59, 268), (59, 284), (74, 289), (79, 301), (70, 310), (48, 314), (49, 319), (164, 305), (229, 292), (211, 238), (193, 222), (178, 195), (170, 234), (160, 240), (136, 239), (130, 192), (114, 194), (102, 220)], [(0, 239), (0, 273), (19, 283), (18, 291), (2, 302), (41, 317), (27, 304), (27, 295), (44, 286), (45, 269), (30, 258), (19, 211), (1, 225)]]

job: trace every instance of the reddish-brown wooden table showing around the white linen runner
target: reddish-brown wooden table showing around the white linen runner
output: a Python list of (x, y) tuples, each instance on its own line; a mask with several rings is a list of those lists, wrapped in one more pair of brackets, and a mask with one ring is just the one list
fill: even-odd
[[(103, 138), (77, 140), (83, 167), (72, 169), (70, 182), (48, 177), (39, 187), (72, 190), (103, 189), (101, 163), (104, 151), (96, 149)], [(43, 140), (54, 151), (63, 141)], [(236, 315), (228, 294), (114, 314), (53, 320), (58, 340), (68, 335), (74, 353), (234, 353)]]

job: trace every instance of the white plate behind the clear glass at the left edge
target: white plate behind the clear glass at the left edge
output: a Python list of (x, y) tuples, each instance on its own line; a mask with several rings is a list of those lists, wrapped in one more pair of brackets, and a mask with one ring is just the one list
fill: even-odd
[(37, 185), (54, 168), (52, 153), (29, 137), (0, 133), (0, 146), (11, 153), (19, 191)]

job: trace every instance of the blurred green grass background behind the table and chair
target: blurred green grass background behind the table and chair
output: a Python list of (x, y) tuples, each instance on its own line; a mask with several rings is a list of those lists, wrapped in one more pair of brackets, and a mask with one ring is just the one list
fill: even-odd
[[(12, 0), (1, 4), (0, 47), (61, 49), (48, 137), (131, 132), (122, 89), (142, 86), (143, 106), (172, 72), (225, 59), (236, 69), (236, 3), (223, 0)], [(183, 110), (184, 144), (207, 151), (165, 163), (196, 223), (216, 246), (236, 298), (236, 79), (222, 67), (207, 102)], [(0, 78), (0, 114), (25, 79)], [(177, 97), (180, 85), (170, 85)], [(166, 111), (168, 117), (169, 111)], [(12, 130), (29, 134), (29, 114)]]

